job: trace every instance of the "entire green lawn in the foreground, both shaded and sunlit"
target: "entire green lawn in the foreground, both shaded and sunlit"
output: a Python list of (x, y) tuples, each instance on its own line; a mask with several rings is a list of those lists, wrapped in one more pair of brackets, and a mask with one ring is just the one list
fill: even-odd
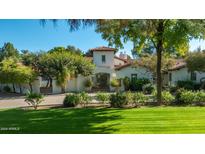
[(0, 110), (0, 133), (205, 133), (204, 107)]

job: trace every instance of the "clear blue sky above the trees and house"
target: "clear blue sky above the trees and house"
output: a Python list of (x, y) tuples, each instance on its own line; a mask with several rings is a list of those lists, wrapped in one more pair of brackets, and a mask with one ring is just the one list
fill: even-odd
[[(55, 46), (74, 45), (83, 51), (97, 46), (107, 46), (100, 34), (94, 31), (94, 27), (70, 32), (65, 21), (59, 20), (57, 26), (47, 22), (43, 27), (40, 20), (0, 20), (0, 47), (5, 42), (11, 42), (18, 50), (30, 51), (49, 50)], [(198, 46), (205, 48), (204, 42), (192, 41), (190, 49)], [(125, 44), (126, 51), (130, 54), (132, 44)]]

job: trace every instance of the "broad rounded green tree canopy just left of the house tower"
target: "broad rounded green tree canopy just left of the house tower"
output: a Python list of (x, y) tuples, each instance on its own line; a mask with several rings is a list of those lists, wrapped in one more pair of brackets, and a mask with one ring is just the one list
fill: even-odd
[[(63, 48), (59, 49), (54, 48), (52, 52), (42, 55), (39, 59), (39, 66), (41, 66), (42, 75), (51, 80), (54, 77), (57, 84), (62, 88), (62, 92), (64, 92), (69, 78), (76, 77), (78, 74), (84, 76), (92, 74), (94, 65), (82, 55), (67, 52)], [(52, 84), (52, 81), (50, 81), (50, 84)]]

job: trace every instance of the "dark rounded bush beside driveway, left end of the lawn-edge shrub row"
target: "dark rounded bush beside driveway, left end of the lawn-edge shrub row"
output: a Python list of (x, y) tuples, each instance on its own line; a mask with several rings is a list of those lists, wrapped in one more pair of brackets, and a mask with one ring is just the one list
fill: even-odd
[(64, 98), (64, 107), (75, 107), (80, 103), (80, 96), (78, 94), (68, 94)]

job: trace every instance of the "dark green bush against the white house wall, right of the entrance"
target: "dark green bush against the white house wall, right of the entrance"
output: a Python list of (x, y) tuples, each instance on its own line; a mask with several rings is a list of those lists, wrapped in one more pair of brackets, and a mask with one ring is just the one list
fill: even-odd
[(132, 91), (142, 91), (142, 87), (145, 84), (150, 83), (149, 79), (141, 78), (141, 79), (132, 79), (131, 80), (131, 87)]

